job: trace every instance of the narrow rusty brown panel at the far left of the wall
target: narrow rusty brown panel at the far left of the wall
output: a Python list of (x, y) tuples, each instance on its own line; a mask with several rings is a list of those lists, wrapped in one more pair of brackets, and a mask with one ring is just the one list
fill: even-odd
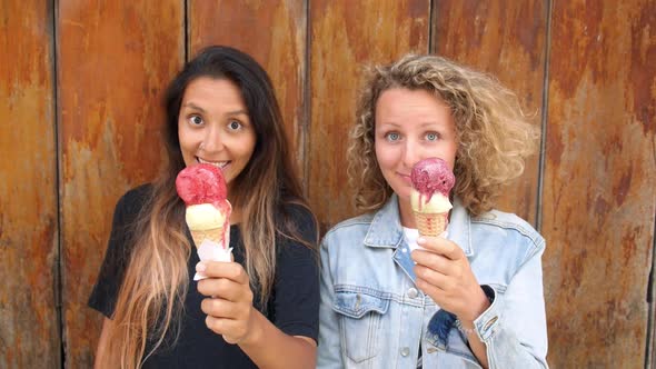
[(52, 8), (47, 1), (0, 1), (0, 368), (58, 368)]

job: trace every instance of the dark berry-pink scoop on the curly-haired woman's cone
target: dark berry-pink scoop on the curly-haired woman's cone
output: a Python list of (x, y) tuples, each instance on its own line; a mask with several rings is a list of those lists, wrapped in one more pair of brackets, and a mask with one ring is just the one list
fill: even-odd
[(439, 158), (428, 158), (417, 162), (413, 167), (410, 179), (413, 187), (421, 193), (426, 201), (430, 200), (435, 192), (448, 197), (456, 183), (454, 172), (446, 161)]

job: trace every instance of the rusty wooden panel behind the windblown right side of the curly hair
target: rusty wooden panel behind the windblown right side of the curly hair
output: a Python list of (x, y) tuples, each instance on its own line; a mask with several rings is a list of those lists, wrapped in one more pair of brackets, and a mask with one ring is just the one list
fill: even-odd
[[(433, 50), (488, 72), (517, 93), (529, 121), (540, 126), (546, 1), (437, 1)], [(539, 142), (538, 142), (539, 144)], [(539, 148), (538, 148), (539, 149)], [(507, 187), (498, 208), (535, 225), (539, 156), (529, 158), (524, 174)]]

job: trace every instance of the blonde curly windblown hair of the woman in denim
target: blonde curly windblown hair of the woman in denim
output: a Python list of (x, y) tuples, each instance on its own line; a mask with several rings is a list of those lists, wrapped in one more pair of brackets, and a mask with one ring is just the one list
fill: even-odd
[(539, 129), (527, 121), (517, 96), (496, 79), (436, 56), (407, 54), (369, 70), (347, 151), (356, 207), (380, 209), (392, 195), (376, 159), (376, 103), (392, 88), (426, 90), (444, 101), (456, 124), (458, 148), (454, 193), (473, 216), (489, 211), (504, 184), (524, 172)]

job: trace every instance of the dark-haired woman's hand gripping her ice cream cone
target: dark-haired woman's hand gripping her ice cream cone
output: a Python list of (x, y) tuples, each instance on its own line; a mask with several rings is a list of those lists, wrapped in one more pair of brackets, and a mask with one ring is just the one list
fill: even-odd
[(237, 262), (202, 261), (196, 270), (208, 277), (198, 281), (198, 291), (208, 297), (200, 305), (207, 313), (207, 327), (223, 336), (228, 343), (251, 339), (255, 308), (243, 267)]

